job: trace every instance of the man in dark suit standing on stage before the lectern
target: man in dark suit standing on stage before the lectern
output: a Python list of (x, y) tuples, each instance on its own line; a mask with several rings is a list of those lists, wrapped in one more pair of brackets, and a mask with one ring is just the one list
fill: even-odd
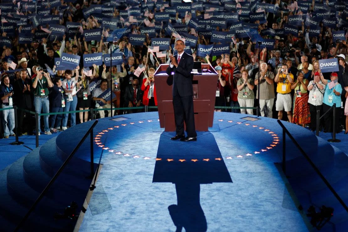
[[(166, 73), (173, 75), (173, 107), (175, 117), (176, 135), (172, 140), (196, 141), (195, 118), (193, 114), (193, 88), (191, 71), (193, 68), (193, 57), (184, 52), (185, 43), (177, 39), (175, 49), (177, 54), (170, 55), (171, 63)], [(184, 121), (186, 124), (187, 137), (184, 133)]]

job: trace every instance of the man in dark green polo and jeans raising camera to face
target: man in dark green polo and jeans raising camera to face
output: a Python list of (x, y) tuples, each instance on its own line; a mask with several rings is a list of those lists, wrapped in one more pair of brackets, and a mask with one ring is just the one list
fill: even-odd
[[(44, 113), (49, 112), (49, 100), (48, 100), (48, 88), (53, 87), (53, 83), (48, 73), (45, 73), (42, 67), (36, 68), (37, 76), (32, 79), (32, 87), (34, 91), (34, 107), (35, 112), (41, 113), (41, 109)], [(48, 115), (44, 116), (45, 134), (51, 135), (51, 131), (48, 127)], [(40, 117), (39, 117), (39, 131), (40, 135)]]

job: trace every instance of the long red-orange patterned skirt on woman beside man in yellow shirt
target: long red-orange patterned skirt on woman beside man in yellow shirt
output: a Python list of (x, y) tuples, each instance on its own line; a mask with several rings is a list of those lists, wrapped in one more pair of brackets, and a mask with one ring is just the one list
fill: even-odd
[(292, 122), (301, 124), (310, 123), (310, 112), (308, 105), (308, 93), (301, 94), (301, 97), (296, 97), (294, 94)]

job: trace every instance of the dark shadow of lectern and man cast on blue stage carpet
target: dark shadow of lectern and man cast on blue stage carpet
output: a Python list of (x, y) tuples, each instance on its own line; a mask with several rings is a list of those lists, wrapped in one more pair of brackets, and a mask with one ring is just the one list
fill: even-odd
[(163, 132), (158, 145), (152, 182), (175, 184), (177, 205), (168, 207), (176, 231), (206, 231), (200, 206), (200, 184), (232, 183), (221, 153), (210, 132), (198, 132), (197, 142), (171, 141)]

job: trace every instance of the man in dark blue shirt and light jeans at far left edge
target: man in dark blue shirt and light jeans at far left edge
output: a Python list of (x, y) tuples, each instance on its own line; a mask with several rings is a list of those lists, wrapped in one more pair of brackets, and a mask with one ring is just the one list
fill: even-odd
[[(1, 87), (1, 108), (9, 108), (13, 105), (13, 87), (10, 84), (10, 78), (7, 74), (2, 76)], [(8, 109), (1, 111), (2, 114), (2, 126), (4, 130), (4, 138), (8, 136), (15, 136), (13, 129), (15, 128), (15, 111), (14, 109)]]

